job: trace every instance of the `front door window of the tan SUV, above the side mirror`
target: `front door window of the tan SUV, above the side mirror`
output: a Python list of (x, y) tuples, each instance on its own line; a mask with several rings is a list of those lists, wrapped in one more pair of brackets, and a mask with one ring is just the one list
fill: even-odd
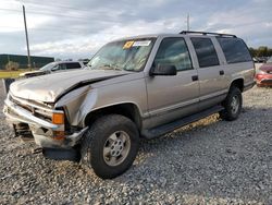
[(154, 58), (156, 64), (175, 65), (177, 71), (193, 69), (183, 38), (164, 38)]

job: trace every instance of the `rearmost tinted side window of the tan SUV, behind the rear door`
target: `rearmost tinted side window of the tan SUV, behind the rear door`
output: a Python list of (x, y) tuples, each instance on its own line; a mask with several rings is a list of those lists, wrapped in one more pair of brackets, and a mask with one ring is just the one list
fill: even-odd
[(239, 38), (217, 37), (227, 63), (252, 61), (246, 44)]

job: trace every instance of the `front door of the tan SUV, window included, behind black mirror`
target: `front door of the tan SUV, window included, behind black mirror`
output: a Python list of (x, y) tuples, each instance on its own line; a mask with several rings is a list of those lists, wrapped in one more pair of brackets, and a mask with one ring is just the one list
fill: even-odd
[(197, 111), (199, 84), (187, 45), (182, 37), (163, 38), (153, 65), (175, 65), (174, 76), (147, 76), (148, 106), (153, 126)]

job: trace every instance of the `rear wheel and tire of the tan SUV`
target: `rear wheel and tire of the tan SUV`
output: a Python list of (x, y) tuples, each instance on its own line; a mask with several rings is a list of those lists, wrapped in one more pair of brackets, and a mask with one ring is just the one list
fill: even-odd
[(227, 121), (236, 120), (240, 113), (243, 105), (240, 89), (235, 86), (231, 87), (222, 105), (224, 107), (224, 110), (219, 112), (220, 117)]

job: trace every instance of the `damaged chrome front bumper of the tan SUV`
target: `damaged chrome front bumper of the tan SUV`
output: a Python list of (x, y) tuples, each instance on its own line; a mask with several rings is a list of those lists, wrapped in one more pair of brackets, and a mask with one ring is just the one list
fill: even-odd
[[(57, 110), (58, 111), (58, 110)], [(65, 135), (61, 140), (54, 136), (55, 132), (65, 132), (64, 124), (53, 124), (47, 120), (34, 116), (33, 112), (24, 109), (23, 107), (14, 104), (9, 99), (4, 100), (3, 113), (7, 121), (13, 128), (17, 125), (26, 125), (35, 138), (35, 143), (40, 147), (47, 148), (70, 148), (75, 146), (83, 134), (87, 131), (88, 126), (78, 130), (70, 135)]]

